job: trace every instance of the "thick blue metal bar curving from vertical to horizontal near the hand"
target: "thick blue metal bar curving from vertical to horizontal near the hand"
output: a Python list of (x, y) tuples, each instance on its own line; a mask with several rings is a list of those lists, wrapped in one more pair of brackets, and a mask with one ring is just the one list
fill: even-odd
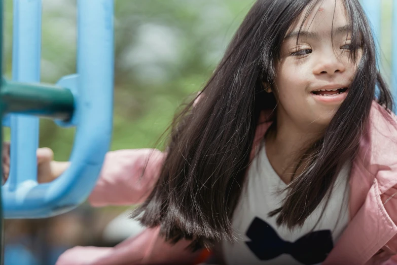
[[(83, 203), (94, 188), (112, 138), (113, 12), (114, 0), (78, 1), (78, 75), (58, 82), (75, 91), (72, 120), (77, 129), (70, 167), (50, 183), (25, 181), (18, 183), (14, 191), (3, 186), (5, 218), (43, 218), (70, 211)], [(76, 84), (77, 90), (73, 88)], [(22, 167), (26, 169), (25, 164)]]

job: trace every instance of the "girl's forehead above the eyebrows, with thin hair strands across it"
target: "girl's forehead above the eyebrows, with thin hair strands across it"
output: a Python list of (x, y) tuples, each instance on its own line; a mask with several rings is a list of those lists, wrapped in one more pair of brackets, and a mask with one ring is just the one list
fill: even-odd
[[(332, 28), (346, 26), (349, 19), (346, 13), (343, 0), (320, 0), (313, 6), (308, 5), (300, 17), (293, 23), (288, 32), (302, 30), (331, 32)], [(311, 12), (308, 14), (308, 12)]]

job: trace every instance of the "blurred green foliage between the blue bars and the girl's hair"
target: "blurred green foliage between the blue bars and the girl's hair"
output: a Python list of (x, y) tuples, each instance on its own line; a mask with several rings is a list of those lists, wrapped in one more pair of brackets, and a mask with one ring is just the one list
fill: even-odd
[[(115, 0), (112, 150), (153, 147), (183, 99), (199, 91), (254, 0)], [(11, 77), (12, 0), (6, 0)], [(76, 0), (44, 0), (42, 82), (76, 72)], [(95, 96), (95, 95), (92, 95)], [(67, 160), (74, 128), (41, 121), (40, 145)]]

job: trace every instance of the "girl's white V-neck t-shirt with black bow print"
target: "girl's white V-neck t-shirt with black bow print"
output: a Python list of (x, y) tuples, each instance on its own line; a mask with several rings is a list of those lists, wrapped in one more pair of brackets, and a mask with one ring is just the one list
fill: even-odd
[(285, 192), (276, 192), (286, 184), (272, 168), (263, 145), (250, 165), (246, 189), (234, 212), (232, 225), (239, 239), (235, 243), (222, 243), (226, 264), (321, 263), (348, 223), (349, 173), (350, 163), (346, 163), (317, 225), (325, 200), (306, 219), (303, 227), (289, 230), (276, 225), (277, 215), (268, 217), (269, 212), (280, 206)]

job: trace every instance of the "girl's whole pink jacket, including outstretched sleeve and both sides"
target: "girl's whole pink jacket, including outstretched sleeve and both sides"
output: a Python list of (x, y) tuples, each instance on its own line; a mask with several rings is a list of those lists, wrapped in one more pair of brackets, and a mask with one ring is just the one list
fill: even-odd
[[(251, 157), (268, 127), (269, 123), (258, 125)], [(109, 152), (90, 203), (100, 207), (142, 202), (156, 183), (164, 156), (155, 149)], [(350, 190), (349, 224), (322, 264), (381, 264), (397, 254), (397, 118), (375, 102), (352, 164)], [(69, 249), (56, 265), (193, 264), (200, 252), (186, 251), (187, 245), (180, 241), (171, 246), (159, 237), (158, 228), (146, 229), (114, 248)], [(389, 259), (384, 264), (393, 263)]]

